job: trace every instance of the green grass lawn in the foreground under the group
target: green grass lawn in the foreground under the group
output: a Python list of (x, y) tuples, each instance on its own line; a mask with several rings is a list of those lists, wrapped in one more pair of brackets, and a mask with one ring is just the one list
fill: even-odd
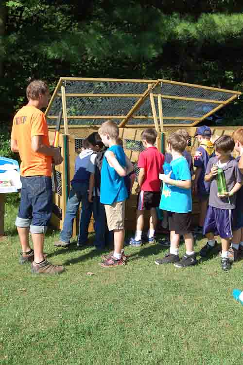
[(103, 269), (92, 246), (54, 248), (50, 231), (45, 251), (67, 271), (35, 276), (18, 264), (16, 213), (6, 206), (0, 243), (1, 365), (243, 364), (243, 306), (231, 297), (243, 289), (243, 261), (228, 273), (218, 257), (162, 267), (154, 261), (166, 250), (146, 244), (126, 249), (127, 265)]

